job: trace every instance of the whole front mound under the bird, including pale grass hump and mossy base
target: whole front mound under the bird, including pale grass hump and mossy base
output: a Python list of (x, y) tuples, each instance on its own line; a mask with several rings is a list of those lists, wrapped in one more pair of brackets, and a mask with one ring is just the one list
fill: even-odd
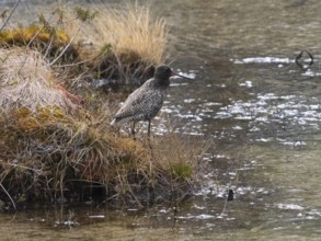
[(2, 203), (85, 200), (96, 188), (103, 200), (145, 205), (191, 192), (198, 153), (169, 139), (150, 149), (144, 138), (119, 136), (111, 114), (80, 105), (36, 51), (0, 49), (0, 56)]

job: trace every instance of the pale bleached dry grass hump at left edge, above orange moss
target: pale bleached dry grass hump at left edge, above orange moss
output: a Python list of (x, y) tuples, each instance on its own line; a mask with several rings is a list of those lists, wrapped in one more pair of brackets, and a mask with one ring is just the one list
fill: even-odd
[(76, 104), (57, 88), (58, 81), (44, 57), (33, 50), (0, 48), (0, 107), (4, 112), (25, 107), (59, 107), (66, 112)]

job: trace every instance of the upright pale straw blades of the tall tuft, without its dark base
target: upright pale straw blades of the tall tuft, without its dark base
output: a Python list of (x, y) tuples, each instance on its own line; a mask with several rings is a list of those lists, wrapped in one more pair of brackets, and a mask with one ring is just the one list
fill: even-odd
[[(100, 48), (110, 44), (118, 57), (135, 53), (150, 64), (162, 62), (168, 35), (164, 19), (152, 18), (150, 8), (138, 3), (128, 4), (124, 9), (111, 9), (102, 4), (95, 10), (99, 15), (84, 25), (80, 37)], [(135, 58), (134, 54), (130, 56)]]

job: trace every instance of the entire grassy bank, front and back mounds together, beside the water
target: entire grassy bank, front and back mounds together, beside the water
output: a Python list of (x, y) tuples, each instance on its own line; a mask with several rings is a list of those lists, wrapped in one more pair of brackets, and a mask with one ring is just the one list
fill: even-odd
[[(148, 78), (162, 61), (165, 23), (133, 8), (76, 8), (79, 25), (59, 8), (54, 22), (39, 15), (0, 32), (0, 208), (89, 198), (145, 206), (184, 199), (199, 184), (204, 145), (173, 133), (151, 142), (119, 134), (108, 124), (116, 94), (90, 85)], [(100, 34), (90, 51), (77, 42), (82, 31)]]

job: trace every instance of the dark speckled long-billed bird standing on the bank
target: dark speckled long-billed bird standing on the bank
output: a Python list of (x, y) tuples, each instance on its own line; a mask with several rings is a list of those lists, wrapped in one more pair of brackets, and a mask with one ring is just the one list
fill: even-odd
[[(150, 122), (163, 105), (164, 90), (170, 85), (170, 77), (173, 74), (175, 73), (170, 67), (158, 66), (153, 78), (147, 80), (127, 97), (111, 124), (134, 122), (135, 128), (136, 122), (148, 120), (148, 135), (150, 135)], [(133, 135), (135, 135), (134, 128)]]

